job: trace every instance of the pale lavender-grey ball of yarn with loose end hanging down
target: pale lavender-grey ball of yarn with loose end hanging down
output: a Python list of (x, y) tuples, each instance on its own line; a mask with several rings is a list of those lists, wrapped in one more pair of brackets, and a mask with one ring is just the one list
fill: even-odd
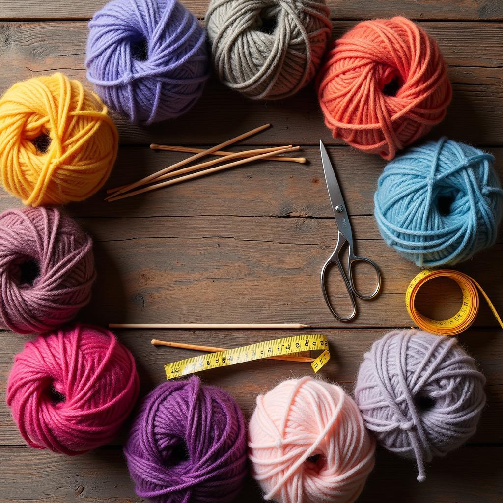
[(485, 405), (484, 376), (456, 339), (392, 331), (365, 354), (355, 399), (365, 425), (386, 449), (425, 462), (475, 433)]

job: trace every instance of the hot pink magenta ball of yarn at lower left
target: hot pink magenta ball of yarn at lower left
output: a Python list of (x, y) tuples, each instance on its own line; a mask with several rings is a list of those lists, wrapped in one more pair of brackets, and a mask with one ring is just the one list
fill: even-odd
[(73, 456), (116, 436), (138, 389), (133, 356), (114, 334), (77, 324), (26, 343), (7, 404), (31, 447)]

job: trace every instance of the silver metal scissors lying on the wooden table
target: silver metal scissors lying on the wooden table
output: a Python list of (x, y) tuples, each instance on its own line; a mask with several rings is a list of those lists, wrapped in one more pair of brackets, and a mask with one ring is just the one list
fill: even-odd
[[(381, 288), (381, 272), (379, 271), (377, 265), (370, 259), (366, 259), (365, 257), (358, 257), (357, 255), (355, 255), (355, 244), (353, 242), (351, 222), (349, 220), (348, 212), (346, 209), (346, 202), (344, 201), (341, 187), (339, 185), (339, 182), (337, 181), (336, 173), (333, 170), (330, 158), (328, 157), (328, 152), (326, 151), (325, 145), (323, 145), (323, 142), (321, 140), (319, 140), (319, 148), (321, 151), (321, 162), (323, 164), (323, 171), (325, 173), (328, 196), (330, 197), (330, 204), (332, 205), (333, 214), (336, 217), (338, 228), (336, 249), (333, 250), (332, 255), (330, 255), (328, 260), (321, 268), (321, 291), (323, 292), (323, 297), (325, 298), (326, 305), (330, 309), (331, 313), (340, 321), (350, 321), (356, 316), (355, 295), (360, 299), (368, 300), (374, 298), (379, 293), (379, 289)], [(339, 258), (341, 250), (346, 243), (348, 243), (349, 248), (348, 275), (346, 275)], [(366, 262), (374, 268), (377, 276), (377, 281), (376, 288), (371, 294), (363, 295), (356, 289), (355, 282), (353, 280), (353, 265), (355, 264), (355, 262)], [(346, 285), (346, 289), (348, 290), (350, 300), (353, 305), (353, 313), (347, 318), (339, 316), (336, 311), (334, 311), (332, 305), (330, 304), (328, 294), (326, 293), (326, 275), (327, 267), (329, 265), (336, 265), (338, 267), (339, 272), (341, 273), (341, 276)]]

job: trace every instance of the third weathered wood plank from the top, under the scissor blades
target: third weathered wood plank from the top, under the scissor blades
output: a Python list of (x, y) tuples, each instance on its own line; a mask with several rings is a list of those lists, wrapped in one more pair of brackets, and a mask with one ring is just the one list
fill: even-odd
[[(267, 138), (270, 133), (263, 133)], [(374, 213), (374, 192), (385, 161), (353, 148), (330, 148), (330, 156), (351, 215)], [(503, 179), (503, 149), (488, 149)], [(84, 203), (68, 207), (74, 216), (275, 216), (333, 218), (319, 147), (304, 147), (306, 164), (262, 161), (181, 183), (113, 203), (102, 191)], [(186, 157), (153, 152), (148, 147), (122, 147), (107, 187), (134, 182)], [(2, 192), (5, 194), (5, 192)], [(19, 206), (13, 197), (0, 197), (0, 210)]]

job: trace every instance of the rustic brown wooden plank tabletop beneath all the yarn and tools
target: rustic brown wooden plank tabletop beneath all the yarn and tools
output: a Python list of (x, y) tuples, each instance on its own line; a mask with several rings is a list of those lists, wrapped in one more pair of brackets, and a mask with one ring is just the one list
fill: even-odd
[[(85, 80), (87, 20), (104, 0), (1, 0), (0, 91), (15, 81), (56, 70)], [(186, 0), (203, 18), (207, 0)], [(402, 14), (420, 22), (439, 42), (449, 65), (454, 97), (445, 121), (430, 134), (448, 135), (496, 155), (503, 176), (503, 2), (500, 0), (330, 0), (333, 36), (358, 20)], [(90, 87), (90, 86), (89, 86)], [(403, 296), (417, 268), (381, 240), (372, 195), (384, 161), (333, 140), (309, 87), (283, 102), (257, 103), (228, 91), (215, 79), (200, 102), (177, 121), (138, 128), (116, 117), (121, 148), (110, 187), (183, 157), (154, 153), (152, 141), (213, 145), (265, 122), (274, 127), (247, 144), (298, 143), (306, 165), (261, 162), (113, 204), (100, 194), (69, 211), (95, 239), (98, 282), (91, 305), (78, 318), (108, 322), (299, 321), (327, 334), (332, 359), (323, 377), (346, 381), (351, 391), (364, 352), (384, 332), (410, 326)], [(359, 303), (360, 315), (341, 324), (328, 312), (319, 288), (319, 270), (331, 253), (336, 226), (317, 147), (322, 138), (345, 190), (359, 253), (383, 273), (383, 291)], [(2, 194), (1, 209), (20, 202)], [(490, 250), (460, 269), (486, 288), (503, 310), (503, 235)], [(336, 281), (335, 279), (333, 280)], [(334, 283), (334, 302), (345, 291)], [(449, 288), (449, 285), (445, 285)], [(433, 314), (454, 311), (455, 289), (430, 292)], [(445, 301), (445, 297), (452, 301)], [(290, 332), (293, 335), (297, 332)], [(133, 352), (142, 394), (164, 380), (163, 364), (187, 357), (182, 350), (154, 349), (153, 336), (179, 342), (234, 347), (278, 336), (274, 331), (120, 331)], [(468, 445), (428, 466), (425, 483), (414, 463), (377, 452), (376, 468), (359, 501), (496, 503), (503, 500), (503, 334), (485, 305), (475, 327), (460, 336), (487, 377), (488, 405)], [(121, 450), (112, 445), (69, 458), (25, 446), (5, 405), (5, 387), (14, 355), (25, 336), (4, 332), (0, 351), (0, 501), (88, 503), (140, 501)], [(258, 362), (209, 371), (205, 381), (227, 389), (249, 416), (259, 393), (278, 381), (309, 374), (306, 364)], [(239, 501), (261, 501), (249, 481)]]

